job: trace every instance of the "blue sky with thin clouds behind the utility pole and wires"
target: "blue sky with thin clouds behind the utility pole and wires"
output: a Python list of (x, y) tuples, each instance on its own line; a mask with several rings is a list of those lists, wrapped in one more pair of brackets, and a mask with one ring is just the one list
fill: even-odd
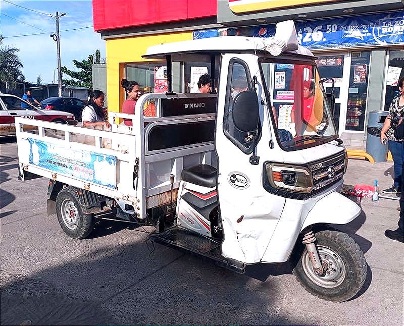
[[(57, 11), (59, 15), (66, 13), (66, 16), (59, 18), (62, 67), (78, 71), (72, 60), (88, 59), (88, 55), (95, 53), (96, 49), (101, 52), (101, 57), (105, 58), (105, 41), (92, 27), (91, 0), (0, 0), (0, 33), (5, 37), (2, 46), (8, 45), (20, 49), (17, 54), (24, 65), (22, 72), (28, 82), (36, 83), (39, 74), (42, 84), (51, 84), (55, 79), (55, 82), (58, 82), (57, 43), (49, 36), (56, 33), (56, 21), (52, 17), (40, 14), (56, 15)], [(91, 27), (63, 32), (67, 29), (88, 26)], [(19, 36), (37, 33), (43, 34)], [(67, 75), (63, 78), (70, 79)]]

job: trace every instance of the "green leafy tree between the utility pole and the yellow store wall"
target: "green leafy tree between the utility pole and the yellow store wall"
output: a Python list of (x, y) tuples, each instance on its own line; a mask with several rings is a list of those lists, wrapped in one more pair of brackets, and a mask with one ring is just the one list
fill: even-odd
[(82, 86), (92, 89), (92, 71), (91, 65), (99, 64), (101, 62), (101, 54), (99, 50), (95, 51), (95, 58), (93, 55), (89, 55), (87, 60), (77, 61), (73, 60), (73, 64), (80, 69), (80, 71), (72, 71), (66, 67), (62, 67), (61, 71), (74, 78), (63, 79), (63, 84), (66, 86)]

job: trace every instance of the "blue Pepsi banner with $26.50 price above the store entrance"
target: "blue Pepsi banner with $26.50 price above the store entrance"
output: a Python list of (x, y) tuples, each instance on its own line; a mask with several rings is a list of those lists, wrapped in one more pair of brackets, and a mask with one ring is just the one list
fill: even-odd
[[(299, 44), (312, 50), (404, 44), (404, 11), (295, 22), (295, 27)], [(216, 30), (216, 35), (273, 37), (275, 28), (227, 28)], [(195, 36), (198, 32), (194, 38), (203, 38)]]

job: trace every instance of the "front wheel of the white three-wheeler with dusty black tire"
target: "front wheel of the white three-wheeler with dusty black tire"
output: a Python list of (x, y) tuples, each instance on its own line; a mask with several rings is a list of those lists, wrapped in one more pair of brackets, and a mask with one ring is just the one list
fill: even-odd
[(293, 275), (308, 292), (320, 299), (349, 300), (366, 280), (367, 263), (361, 248), (354, 239), (339, 231), (319, 231), (316, 238), (323, 267), (329, 274), (318, 276), (314, 273), (308, 251), (302, 245), (295, 248)]

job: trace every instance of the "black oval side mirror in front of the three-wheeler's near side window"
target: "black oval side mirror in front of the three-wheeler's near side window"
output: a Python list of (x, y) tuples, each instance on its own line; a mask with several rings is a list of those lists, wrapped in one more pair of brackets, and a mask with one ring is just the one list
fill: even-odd
[(234, 98), (233, 122), (242, 132), (255, 132), (260, 121), (258, 96), (254, 90), (240, 92)]

